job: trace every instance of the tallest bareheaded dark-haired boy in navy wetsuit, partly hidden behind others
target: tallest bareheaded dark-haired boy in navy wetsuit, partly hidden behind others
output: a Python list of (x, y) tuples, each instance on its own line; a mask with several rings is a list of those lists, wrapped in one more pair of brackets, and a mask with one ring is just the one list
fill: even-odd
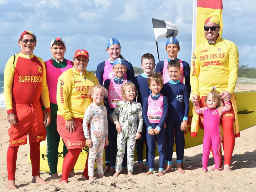
[[(153, 72), (155, 64), (155, 58), (152, 54), (146, 53), (141, 57), (141, 67), (143, 68), (143, 73), (139, 76), (134, 78), (134, 84), (137, 89), (137, 102), (140, 103), (143, 107), (143, 101), (146, 97), (150, 95), (150, 89), (147, 84), (148, 75)], [(137, 173), (143, 171), (143, 147), (144, 142), (146, 141), (146, 124), (143, 122), (143, 129), (141, 133), (141, 138), (136, 140), (136, 151), (138, 157), (138, 170)], [(146, 142), (146, 164), (145, 164), (145, 171), (148, 171), (148, 146)]]

